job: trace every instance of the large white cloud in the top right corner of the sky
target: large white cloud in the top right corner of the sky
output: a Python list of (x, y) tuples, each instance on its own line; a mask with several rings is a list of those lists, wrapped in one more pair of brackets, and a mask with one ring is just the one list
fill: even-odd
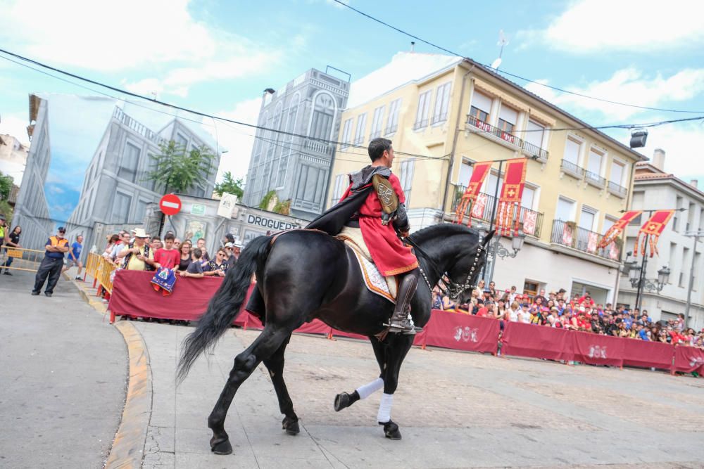
[(704, 45), (704, 3), (582, 0), (546, 29), (521, 31), (517, 39), (572, 53), (700, 48)]

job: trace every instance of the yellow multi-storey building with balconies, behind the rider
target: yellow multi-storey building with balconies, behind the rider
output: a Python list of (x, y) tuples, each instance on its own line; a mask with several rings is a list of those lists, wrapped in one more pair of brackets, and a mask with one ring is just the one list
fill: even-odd
[[(453, 219), (473, 162), (528, 158), (520, 210), (527, 236), (515, 258), (505, 256), (513, 249), (503, 238), (508, 249), (498, 250), (493, 267), (497, 288), (586, 290), (597, 302), (612, 302), (620, 250), (595, 246), (629, 205), (634, 165), (645, 158), (585, 127), (471, 60), (398, 53), (351, 85), (328, 206), (348, 185), (347, 174), (369, 164), (356, 146), (377, 136), (394, 141), (393, 171), (413, 229)], [(498, 169), (497, 162), (472, 207), (472, 226), (489, 226)]]

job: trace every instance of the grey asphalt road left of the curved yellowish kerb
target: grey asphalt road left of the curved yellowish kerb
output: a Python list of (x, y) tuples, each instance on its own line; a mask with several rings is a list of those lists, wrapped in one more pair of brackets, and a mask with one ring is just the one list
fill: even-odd
[(63, 278), (0, 275), (0, 467), (102, 468), (125, 403), (122, 335)]

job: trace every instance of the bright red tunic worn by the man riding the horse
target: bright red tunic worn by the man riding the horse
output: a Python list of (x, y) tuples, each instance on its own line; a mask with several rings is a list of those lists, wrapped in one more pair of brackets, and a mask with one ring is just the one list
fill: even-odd
[[(403, 193), (398, 177), (391, 174), (389, 182), (398, 195), (398, 202), (405, 203), (406, 195)], [(352, 184), (340, 200), (348, 197), (351, 187)], [(386, 226), (382, 225), (382, 203), (379, 202), (379, 196), (375, 191), (371, 191), (367, 195), (367, 200), (360, 207), (359, 214), (362, 238), (364, 238), (377, 269), (384, 277), (403, 274), (418, 266), (418, 259), (415, 258), (410, 248), (398, 239), (394, 226), (391, 223)]]

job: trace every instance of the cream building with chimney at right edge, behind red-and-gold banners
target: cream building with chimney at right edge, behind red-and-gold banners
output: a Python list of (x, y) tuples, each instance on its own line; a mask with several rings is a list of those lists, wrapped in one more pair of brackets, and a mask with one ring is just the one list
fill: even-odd
[[(658, 239), (658, 255), (648, 258), (646, 264), (645, 278), (651, 283), (656, 283), (652, 281), (658, 278), (658, 270), (665, 266), (670, 269), (670, 278), (660, 292), (648, 288), (641, 289), (641, 309), (646, 309), (654, 320), (675, 319), (677, 314), (684, 314), (689, 283), (693, 277), (689, 326), (699, 330), (704, 327), (704, 238), (695, 243), (693, 237), (686, 235), (704, 232), (704, 192), (699, 190), (696, 180), (688, 184), (673, 174), (665, 173), (662, 170), (664, 160), (665, 152), (655, 150), (652, 163), (636, 165), (631, 208), (684, 210), (675, 212)], [(646, 219), (648, 213), (644, 212), (627, 228), (627, 252), (633, 252), (636, 235)], [(638, 265), (642, 259), (642, 255), (635, 259)], [(625, 274), (621, 279), (618, 299), (631, 307), (636, 304), (636, 288), (633, 288)]]

